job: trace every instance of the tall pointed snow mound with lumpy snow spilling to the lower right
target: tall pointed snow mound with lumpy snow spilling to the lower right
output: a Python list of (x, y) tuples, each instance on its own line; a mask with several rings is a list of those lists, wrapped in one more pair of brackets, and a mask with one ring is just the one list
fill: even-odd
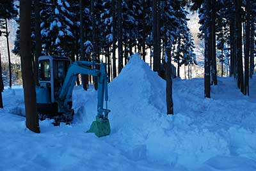
[(188, 167), (229, 154), (220, 135), (199, 130), (186, 115), (166, 115), (165, 86), (138, 54), (109, 85), (111, 137), (121, 137), (124, 151), (132, 156), (139, 145), (150, 161)]

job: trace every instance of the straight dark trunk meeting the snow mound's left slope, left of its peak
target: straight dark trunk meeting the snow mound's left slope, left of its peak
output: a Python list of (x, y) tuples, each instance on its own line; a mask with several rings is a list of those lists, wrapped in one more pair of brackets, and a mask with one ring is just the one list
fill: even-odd
[(118, 74), (123, 66), (123, 28), (122, 28), (122, 0), (118, 0)]

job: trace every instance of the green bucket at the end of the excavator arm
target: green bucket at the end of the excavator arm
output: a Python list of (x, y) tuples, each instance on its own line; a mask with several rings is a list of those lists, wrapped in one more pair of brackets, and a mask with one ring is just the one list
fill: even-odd
[(93, 121), (90, 130), (86, 131), (86, 133), (95, 133), (97, 137), (104, 137), (109, 135), (110, 133), (110, 124), (108, 119), (100, 119), (96, 117), (96, 121)]

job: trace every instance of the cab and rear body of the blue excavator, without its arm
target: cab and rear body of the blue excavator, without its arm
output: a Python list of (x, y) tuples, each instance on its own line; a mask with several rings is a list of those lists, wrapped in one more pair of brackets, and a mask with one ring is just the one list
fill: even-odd
[[(58, 96), (71, 61), (68, 57), (41, 56), (38, 59), (39, 87), (36, 87), (37, 110), (40, 114), (54, 116), (58, 111)], [(68, 100), (72, 108), (72, 97)]]

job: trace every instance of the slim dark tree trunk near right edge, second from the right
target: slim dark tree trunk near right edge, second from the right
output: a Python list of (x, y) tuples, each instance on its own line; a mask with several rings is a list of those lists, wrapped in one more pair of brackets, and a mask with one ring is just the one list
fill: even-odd
[(244, 51), (244, 95), (249, 96), (249, 56), (250, 56), (250, 0), (246, 1), (246, 43)]

